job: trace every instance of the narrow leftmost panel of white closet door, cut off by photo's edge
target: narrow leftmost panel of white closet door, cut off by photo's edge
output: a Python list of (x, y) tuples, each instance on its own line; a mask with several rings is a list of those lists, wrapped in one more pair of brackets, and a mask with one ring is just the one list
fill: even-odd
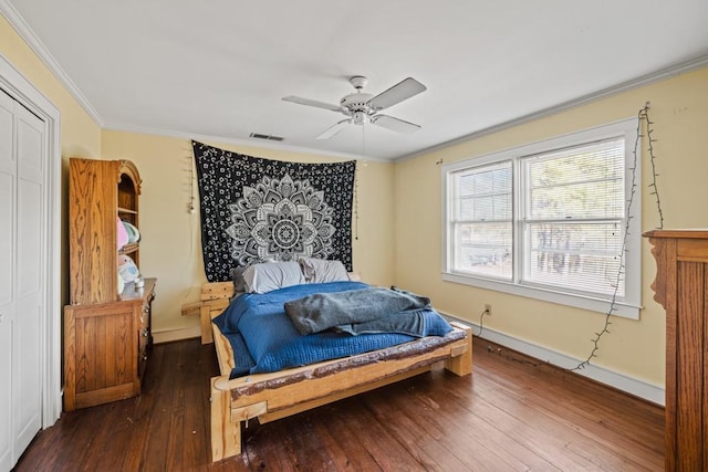
[(0, 471), (14, 464), (12, 433), (12, 325), (14, 297), (14, 101), (0, 91)]

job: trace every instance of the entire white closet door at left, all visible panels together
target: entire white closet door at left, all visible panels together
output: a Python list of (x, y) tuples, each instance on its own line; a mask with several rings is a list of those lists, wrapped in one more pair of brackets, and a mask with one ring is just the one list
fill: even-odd
[(42, 426), (44, 123), (0, 91), (0, 471)]

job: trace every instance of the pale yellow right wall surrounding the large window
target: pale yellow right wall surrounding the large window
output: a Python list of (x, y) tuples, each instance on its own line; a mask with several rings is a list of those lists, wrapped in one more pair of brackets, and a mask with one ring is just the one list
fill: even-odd
[[(604, 315), (552, 303), (475, 289), (441, 280), (440, 166), (549, 137), (636, 116), (646, 102), (654, 122), (655, 155), (664, 228), (708, 227), (708, 69), (539, 118), (513, 128), (467, 140), (417, 158), (395, 169), (396, 284), (425, 293), (456, 317), (479, 322), (485, 303), (493, 315), (486, 327), (584, 359), (590, 339), (602, 329)], [(643, 231), (659, 224), (647, 185), (648, 153), (643, 161)], [(639, 321), (613, 317), (611, 334), (600, 344), (593, 364), (663, 387), (665, 312), (649, 289), (656, 265), (646, 241), (642, 254), (643, 310)]]

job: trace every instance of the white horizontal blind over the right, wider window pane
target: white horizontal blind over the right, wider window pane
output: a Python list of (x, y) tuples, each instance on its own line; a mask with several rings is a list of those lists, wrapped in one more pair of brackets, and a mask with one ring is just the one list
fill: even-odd
[(523, 283), (624, 297), (624, 138), (521, 159)]

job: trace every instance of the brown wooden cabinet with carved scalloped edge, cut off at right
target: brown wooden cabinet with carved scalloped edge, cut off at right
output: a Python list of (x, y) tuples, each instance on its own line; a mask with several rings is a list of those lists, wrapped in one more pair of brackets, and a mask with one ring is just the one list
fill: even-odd
[(708, 230), (656, 230), (654, 300), (666, 310), (666, 470), (708, 470)]

